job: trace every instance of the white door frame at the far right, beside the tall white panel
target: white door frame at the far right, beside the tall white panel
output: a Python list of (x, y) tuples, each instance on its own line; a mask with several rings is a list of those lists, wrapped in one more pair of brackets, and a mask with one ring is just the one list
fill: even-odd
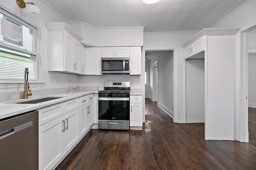
[(247, 33), (256, 29), (256, 21), (242, 27), (237, 34), (235, 138), (249, 142), (248, 131), (248, 44)]

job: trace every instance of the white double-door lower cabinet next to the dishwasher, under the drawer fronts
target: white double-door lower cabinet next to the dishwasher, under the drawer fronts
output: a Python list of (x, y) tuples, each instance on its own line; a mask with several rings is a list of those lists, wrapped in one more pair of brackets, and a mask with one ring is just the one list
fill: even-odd
[(39, 169), (51, 169), (79, 139), (75, 109), (39, 127)]

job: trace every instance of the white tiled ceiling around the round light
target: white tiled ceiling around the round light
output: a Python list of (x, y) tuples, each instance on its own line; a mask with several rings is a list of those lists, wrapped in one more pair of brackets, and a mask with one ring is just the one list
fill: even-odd
[(144, 32), (210, 28), (247, 0), (43, 0), (66, 21), (96, 27), (145, 26)]

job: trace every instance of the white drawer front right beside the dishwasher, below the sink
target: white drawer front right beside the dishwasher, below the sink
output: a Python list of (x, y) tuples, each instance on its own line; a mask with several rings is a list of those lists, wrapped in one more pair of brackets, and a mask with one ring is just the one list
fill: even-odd
[(57, 117), (64, 115), (64, 104), (54, 104), (52, 106), (38, 109), (38, 126), (41, 126)]

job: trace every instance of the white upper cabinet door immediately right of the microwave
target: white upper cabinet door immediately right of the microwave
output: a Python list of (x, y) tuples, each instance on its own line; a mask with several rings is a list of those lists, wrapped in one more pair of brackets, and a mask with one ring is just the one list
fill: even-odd
[(141, 74), (141, 47), (130, 47), (130, 75)]

